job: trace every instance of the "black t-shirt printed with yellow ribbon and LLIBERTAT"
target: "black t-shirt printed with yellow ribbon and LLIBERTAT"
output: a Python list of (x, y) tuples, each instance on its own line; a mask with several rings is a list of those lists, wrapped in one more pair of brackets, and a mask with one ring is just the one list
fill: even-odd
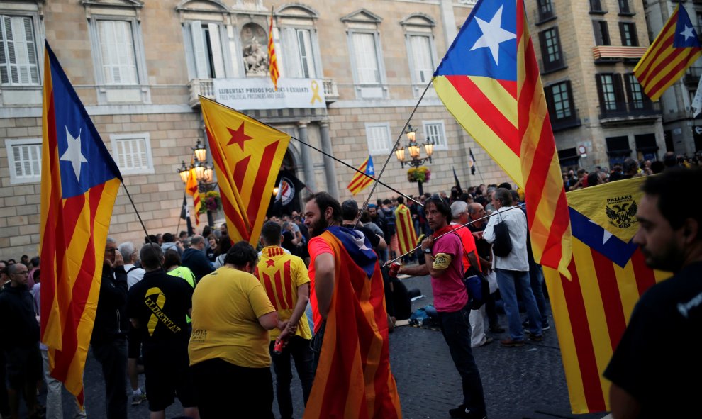
[(127, 294), (127, 315), (138, 321), (138, 335), (145, 347), (187, 342), (186, 314), (192, 307), (193, 288), (162, 270), (147, 272)]

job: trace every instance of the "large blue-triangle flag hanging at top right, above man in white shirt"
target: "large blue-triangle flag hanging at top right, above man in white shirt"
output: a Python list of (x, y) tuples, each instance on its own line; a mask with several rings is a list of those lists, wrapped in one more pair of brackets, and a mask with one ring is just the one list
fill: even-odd
[(568, 209), (523, 0), (479, 0), (433, 83), (447, 110), (524, 188), (536, 261), (567, 275)]

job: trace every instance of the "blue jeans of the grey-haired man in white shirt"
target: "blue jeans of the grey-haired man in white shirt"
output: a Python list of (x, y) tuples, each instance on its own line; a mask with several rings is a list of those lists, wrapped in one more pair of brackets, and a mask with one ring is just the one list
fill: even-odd
[(534, 293), (531, 291), (531, 284), (528, 271), (509, 271), (507, 269), (495, 269), (497, 272), (497, 285), (500, 287), (500, 295), (504, 301), (505, 313), (508, 320), (509, 335), (513, 340), (523, 340), (522, 320), (519, 315), (519, 305), (517, 303), (517, 291), (515, 284), (519, 283), (522, 301), (527, 309), (529, 319), (529, 331), (533, 336), (540, 336), (541, 313), (536, 306)]

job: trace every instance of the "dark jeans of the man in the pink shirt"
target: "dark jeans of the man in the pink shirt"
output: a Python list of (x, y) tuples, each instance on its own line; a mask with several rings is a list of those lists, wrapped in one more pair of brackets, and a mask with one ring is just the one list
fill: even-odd
[(468, 309), (439, 312), (441, 333), (449, 346), (451, 359), (461, 376), (463, 404), (476, 413), (485, 413), (485, 398), (480, 373), (470, 350), (470, 323)]

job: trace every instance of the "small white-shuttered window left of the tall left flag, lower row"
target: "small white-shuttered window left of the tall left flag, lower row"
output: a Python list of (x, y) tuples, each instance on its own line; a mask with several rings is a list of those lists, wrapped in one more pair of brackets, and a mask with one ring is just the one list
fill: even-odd
[(10, 184), (41, 181), (41, 138), (5, 140)]

